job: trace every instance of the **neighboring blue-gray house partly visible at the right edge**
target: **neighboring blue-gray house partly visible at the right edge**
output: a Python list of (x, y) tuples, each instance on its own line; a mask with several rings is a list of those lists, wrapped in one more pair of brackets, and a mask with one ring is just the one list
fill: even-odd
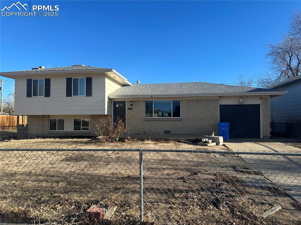
[(271, 98), (272, 131), (290, 138), (301, 138), (301, 76), (275, 84), (269, 89), (286, 90)]

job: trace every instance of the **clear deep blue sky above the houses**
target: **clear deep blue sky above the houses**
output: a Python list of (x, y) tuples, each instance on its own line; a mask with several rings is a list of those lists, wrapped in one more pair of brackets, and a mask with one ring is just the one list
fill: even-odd
[(59, 5), (58, 16), (1, 17), (0, 71), (84, 64), (132, 83), (231, 84), (267, 71), (265, 43), (287, 31), (300, 2), (31, 1)]

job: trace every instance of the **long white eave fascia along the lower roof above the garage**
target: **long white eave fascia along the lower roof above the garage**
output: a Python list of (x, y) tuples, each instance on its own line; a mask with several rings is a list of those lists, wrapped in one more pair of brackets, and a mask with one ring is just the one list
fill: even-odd
[(234, 92), (234, 93), (204, 93), (204, 94), (165, 94), (165, 95), (109, 95), (109, 98), (164, 98), (164, 97), (198, 97), (198, 96), (246, 96), (246, 95), (284, 95), (287, 91), (273, 92)]

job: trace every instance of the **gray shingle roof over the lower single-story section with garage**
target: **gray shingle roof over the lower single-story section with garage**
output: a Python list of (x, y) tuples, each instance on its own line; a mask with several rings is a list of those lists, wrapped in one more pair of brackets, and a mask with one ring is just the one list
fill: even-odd
[[(240, 92), (271, 92), (274, 90), (240, 87), (225, 84), (212, 84), (203, 82), (163, 83), (163, 84), (133, 84), (120, 87), (110, 96), (135, 96), (135, 95), (172, 95), (172, 94), (206, 94), (206, 93), (240, 93)], [(275, 90), (276, 91), (276, 90)]]

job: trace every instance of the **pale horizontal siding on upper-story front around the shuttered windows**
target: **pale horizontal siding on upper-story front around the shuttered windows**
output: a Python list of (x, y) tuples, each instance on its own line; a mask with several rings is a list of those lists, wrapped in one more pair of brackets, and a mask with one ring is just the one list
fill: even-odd
[[(92, 96), (66, 97), (66, 78), (92, 77)], [(50, 97), (26, 97), (26, 79), (50, 78)], [(15, 78), (15, 115), (106, 114), (104, 74), (32, 75)]]

